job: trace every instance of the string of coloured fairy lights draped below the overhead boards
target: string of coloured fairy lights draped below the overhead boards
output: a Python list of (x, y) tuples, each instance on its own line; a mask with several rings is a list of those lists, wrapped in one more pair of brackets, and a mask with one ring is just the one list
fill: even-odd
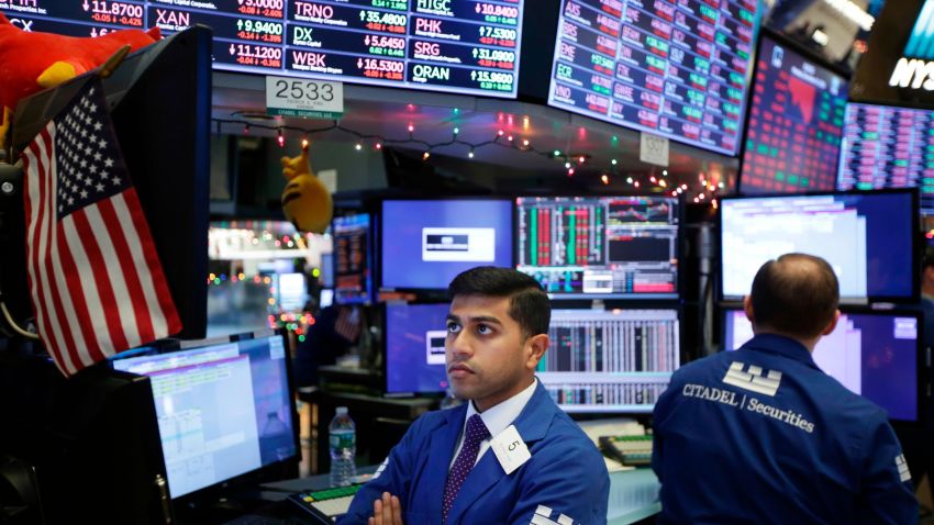
[[(430, 160), (433, 150), (449, 146), (464, 146), (467, 149), (467, 158), (469, 159), (472, 159), (476, 156), (477, 150), (483, 147), (507, 147), (530, 155), (538, 155), (552, 160), (561, 161), (564, 163), (564, 168), (568, 177), (580, 176), (585, 168), (590, 168), (592, 166), (590, 159), (593, 158), (591, 155), (586, 153), (569, 153), (560, 149), (540, 149), (536, 148), (527, 138), (521, 137), (502, 129), (498, 130), (490, 139), (469, 142), (460, 138), (460, 129), (458, 126), (454, 126), (452, 129), (451, 139), (427, 142), (415, 137), (415, 126), (412, 123), (409, 123), (404, 129), (407, 135), (399, 138), (387, 137), (380, 134), (362, 133), (341, 124), (336, 120), (331, 121), (330, 125), (319, 127), (301, 127), (285, 123), (263, 124), (242, 119), (212, 119), (211, 121), (215, 125), (216, 133), (219, 135), (221, 134), (222, 126), (224, 125), (237, 126), (242, 130), (244, 135), (249, 135), (251, 132), (255, 130), (274, 132), (279, 147), (286, 147), (287, 132), (300, 134), (302, 136), (301, 145), (303, 148), (308, 146), (311, 137), (316, 134), (335, 131), (343, 132), (354, 138), (353, 148), (356, 152), (362, 152), (364, 147), (373, 147), (376, 150), (380, 150), (383, 146), (408, 146), (413, 149), (421, 149), (422, 160), (424, 161)], [(619, 161), (615, 158), (610, 159), (609, 166), (600, 169), (593, 167), (590, 171), (599, 174), (599, 180), (604, 186), (609, 186), (614, 179), (624, 180), (626, 185), (634, 189), (655, 193), (666, 193), (672, 197), (678, 197), (681, 193), (686, 193), (691, 190), (687, 183), (682, 182), (680, 185), (675, 185), (670, 182), (667, 169), (661, 169), (659, 175), (655, 175), (654, 171), (648, 175), (620, 174)], [(623, 179), (623, 177), (625, 178)], [(703, 174), (699, 174), (698, 187), (693, 188), (696, 191), (693, 202), (711, 202), (715, 206), (718, 193), (724, 189), (724, 186), (725, 185), (723, 182), (715, 183), (714, 181), (709, 180)]]

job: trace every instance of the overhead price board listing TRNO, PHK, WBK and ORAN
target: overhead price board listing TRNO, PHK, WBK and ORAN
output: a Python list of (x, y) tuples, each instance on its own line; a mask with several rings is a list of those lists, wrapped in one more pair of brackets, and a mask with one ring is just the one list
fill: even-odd
[(523, 0), (0, 0), (26, 31), (98, 36), (193, 24), (214, 67), (515, 98)]

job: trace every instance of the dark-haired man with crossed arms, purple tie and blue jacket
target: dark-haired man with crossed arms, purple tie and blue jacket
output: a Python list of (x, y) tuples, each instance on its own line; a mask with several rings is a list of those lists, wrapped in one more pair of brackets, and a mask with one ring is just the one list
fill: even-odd
[(460, 273), (448, 290), (447, 377), (469, 402), (419, 418), (338, 523), (607, 523), (603, 459), (535, 378), (547, 294), (493, 267)]

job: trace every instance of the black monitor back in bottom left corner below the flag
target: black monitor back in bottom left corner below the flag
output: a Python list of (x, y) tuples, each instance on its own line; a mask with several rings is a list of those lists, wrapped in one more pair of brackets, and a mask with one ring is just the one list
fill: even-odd
[(107, 366), (65, 378), (51, 359), (0, 351), (0, 509), (27, 507), (0, 521), (175, 523), (151, 392), (148, 378)]

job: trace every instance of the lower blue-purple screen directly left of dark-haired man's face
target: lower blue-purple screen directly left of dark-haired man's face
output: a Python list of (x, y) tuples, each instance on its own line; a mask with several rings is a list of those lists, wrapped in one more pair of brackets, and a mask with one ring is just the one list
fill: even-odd
[(386, 304), (386, 392), (437, 393), (447, 389), (444, 340), (448, 303)]

